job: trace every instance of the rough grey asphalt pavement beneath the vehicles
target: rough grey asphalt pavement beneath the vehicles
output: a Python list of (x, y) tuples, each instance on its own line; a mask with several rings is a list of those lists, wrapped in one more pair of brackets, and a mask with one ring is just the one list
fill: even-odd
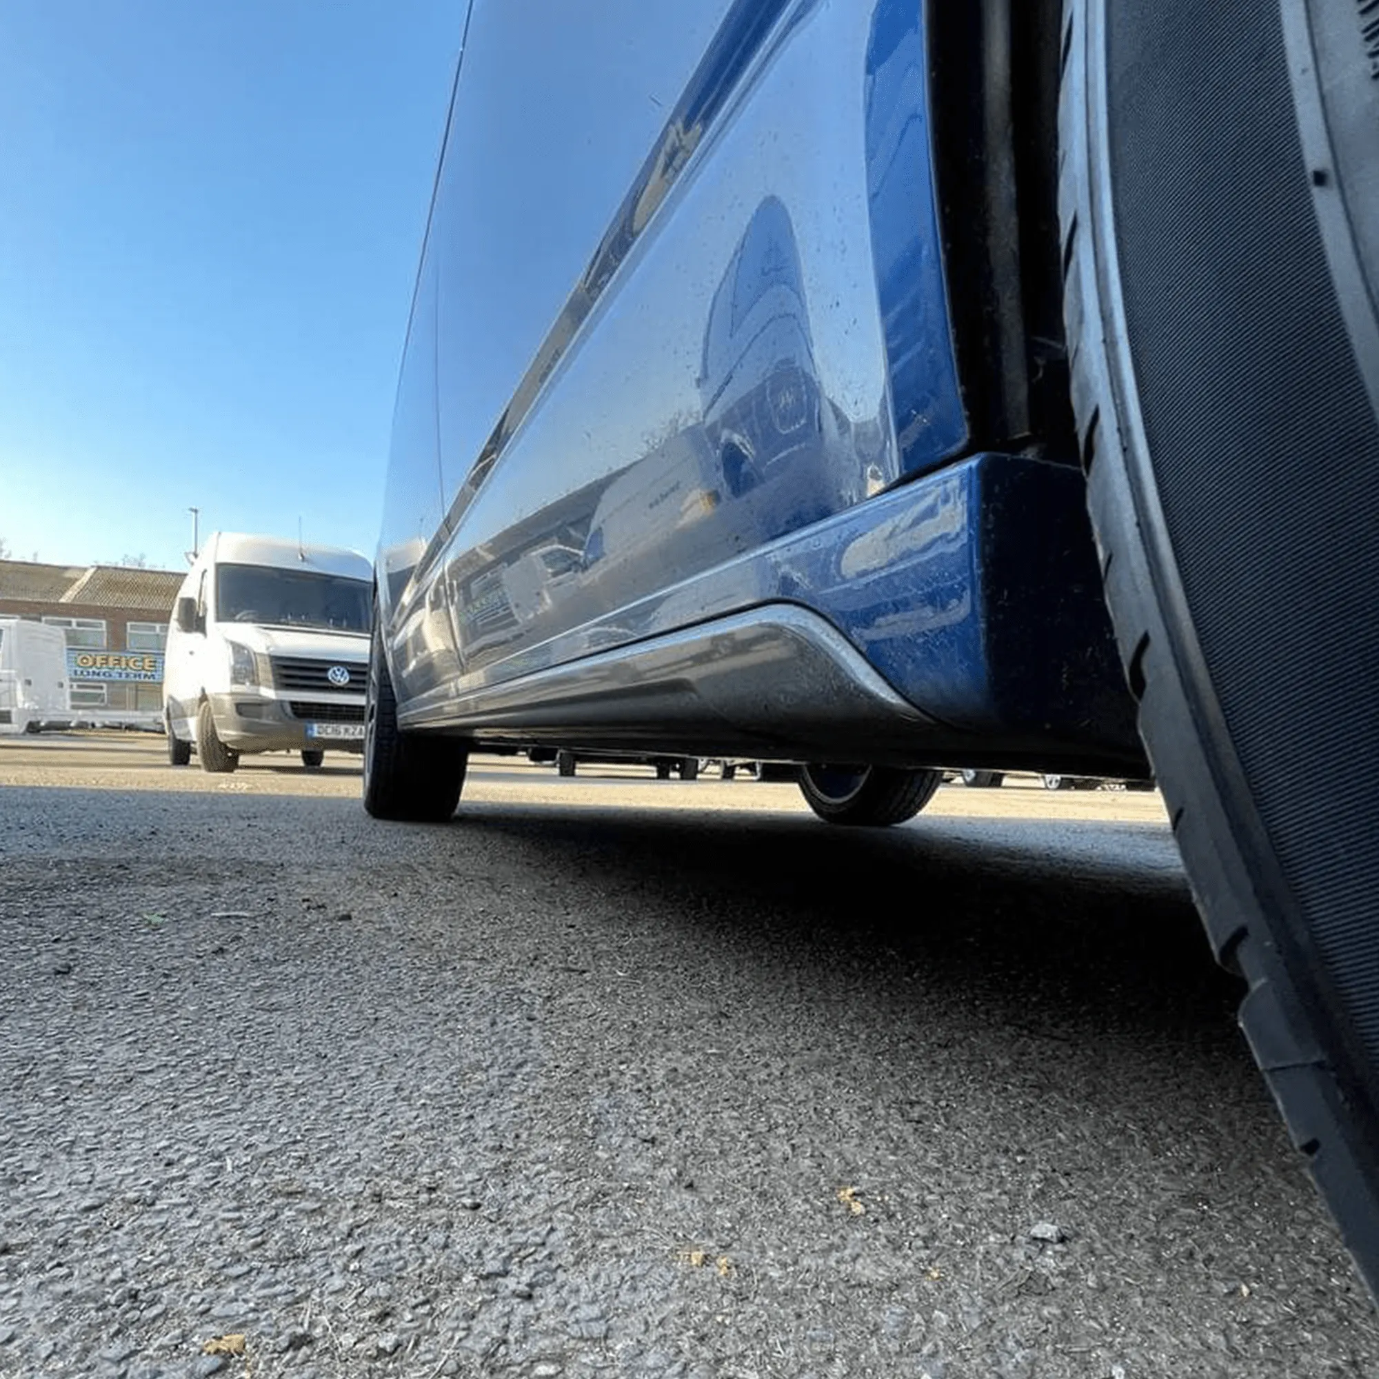
[(0, 741), (6, 1379), (1379, 1373), (1157, 796), (160, 753)]

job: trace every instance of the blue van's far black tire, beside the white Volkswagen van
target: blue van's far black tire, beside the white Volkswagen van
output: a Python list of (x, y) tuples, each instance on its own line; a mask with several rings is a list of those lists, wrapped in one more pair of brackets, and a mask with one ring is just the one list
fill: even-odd
[(375, 819), (444, 823), (459, 804), (469, 752), (455, 738), (403, 732), (378, 607), (364, 706), (364, 808)]

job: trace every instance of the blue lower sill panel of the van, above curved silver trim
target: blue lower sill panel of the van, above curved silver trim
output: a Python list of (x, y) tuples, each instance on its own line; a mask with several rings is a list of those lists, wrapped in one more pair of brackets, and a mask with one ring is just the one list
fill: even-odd
[[(445, 604), (473, 608), (472, 592)], [(414, 702), (443, 725), (456, 701), (636, 648), (734, 614), (794, 604), (821, 614), (929, 724), (924, 736), (978, 756), (1041, 743), (1138, 761), (1134, 705), (1118, 678), (1087, 534), (1081, 476), (983, 454), (498, 663), (448, 677)], [(954, 758), (956, 760), (956, 758)]]

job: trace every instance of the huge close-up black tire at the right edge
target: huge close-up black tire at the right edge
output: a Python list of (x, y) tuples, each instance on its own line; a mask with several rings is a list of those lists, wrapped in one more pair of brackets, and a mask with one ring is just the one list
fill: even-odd
[[(1062, 51), (1065, 316), (1106, 598), (1207, 932), (1249, 985), (1241, 1026), (1373, 1292), (1379, 204), (1362, 188), (1379, 139), (1362, 36), (1346, 7), (1067, 0)], [(1300, 790), (1322, 763), (1364, 769)]]

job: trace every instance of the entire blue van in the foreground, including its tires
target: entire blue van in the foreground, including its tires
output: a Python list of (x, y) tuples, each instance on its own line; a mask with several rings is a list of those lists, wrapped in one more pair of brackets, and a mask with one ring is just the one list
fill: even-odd
[(1379, 772), (1298, 787), (1379, 760), (1373, 58), (1345, 4), (473, 0), (368, 811), (485, 743), (852, 826), (1153, 775), (1379, 1281)]

